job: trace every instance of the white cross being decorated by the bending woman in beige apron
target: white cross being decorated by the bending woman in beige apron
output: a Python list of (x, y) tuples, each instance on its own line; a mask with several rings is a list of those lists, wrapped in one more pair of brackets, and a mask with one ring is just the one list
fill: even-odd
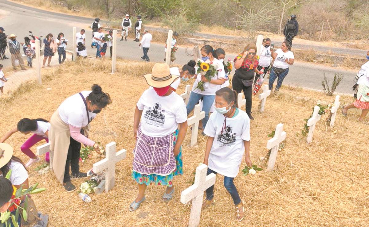
[(127, 156), (126, 150), (121, 150), (115, 153), (117, 143), (111, 142), (106, 145), (106, 158), (93, 164), (93, 172), (99, 173), (105, 170), (105, 192), (110, 191), (115, 184), (115, 164), (123, 160)]

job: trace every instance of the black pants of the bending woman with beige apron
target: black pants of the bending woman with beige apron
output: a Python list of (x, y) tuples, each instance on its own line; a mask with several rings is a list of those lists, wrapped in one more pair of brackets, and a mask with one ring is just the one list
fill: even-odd
[(67, 161), (65, 163), (64, 180), (63, 182), (70, 181), (69, 165), (73, 175), (79, 174), (79, 152), (81, 150), (81, 143), (70, 137), (70, 144), (68, 149)]

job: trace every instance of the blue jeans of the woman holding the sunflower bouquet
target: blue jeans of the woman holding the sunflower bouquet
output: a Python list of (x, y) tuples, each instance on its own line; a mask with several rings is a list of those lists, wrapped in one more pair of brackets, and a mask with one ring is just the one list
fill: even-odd
[(203, 98), (202, 111), (205, 111), (205, 118), (203, 119), (203, 130), (204, 130), (206, 123), (209, 120), (209, 112), (210, 112), (211, 106), (214, 103), (215, 95), (200, 95), (192, 91), (190, 94), (190, 99), (188, 101), (186, 109), (187, 109), (187, 115), (189, 115), (190, 112), (193, 110), (193, 108), (195, 108), (195, 105), (197, 104), (197, 102), (200, 101), (201, 97)]

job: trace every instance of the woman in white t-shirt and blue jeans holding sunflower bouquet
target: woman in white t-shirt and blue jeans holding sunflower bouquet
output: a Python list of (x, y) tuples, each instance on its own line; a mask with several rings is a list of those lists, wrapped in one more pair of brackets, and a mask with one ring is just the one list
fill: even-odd
[[(202, 111), (205, 111), (205, 118), (202, 121), (202, 129), (204, 129), (209, 119), (210, 108), (214, 103), (215, 92), (219, 90), (219, 85), (227, 81), (227, 78), (225, 78), (223, 63), (217, 59), (218, 56), (215, 54), (215, 50), (212, 46), (203, 46), (201, 48), (201, 56), (203, 60), (203, 63), (200, 64), (201, 69), (203, 71), (207, 71), (210, 65), (204, 62), (210, 60), (211, 65), (215, 67), (215, 70), (217, 70), (217, 72), (215, 73), (215, 76), (213, 76), (210, 80), (208, 80), (205, 76), (202, 76), (201, 73), (197, 74), (197, 78), (195, 83), (193, 84), (192, 92), (190, 94), (190, 99), (188, 101), (186, 109), (187, 115), (189, 115), (190, 112), (194, 109), (195, 105), (199, 102), (199, 100), (203, 98)], [(198, 88), (199, 83), (203, 83), (203, 90)]]

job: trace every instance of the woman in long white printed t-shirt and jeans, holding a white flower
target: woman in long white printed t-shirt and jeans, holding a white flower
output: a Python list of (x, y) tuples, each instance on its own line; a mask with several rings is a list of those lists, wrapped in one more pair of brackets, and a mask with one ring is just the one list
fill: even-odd
[[(216, 92), (215, 110), (205, 127), (208, 136), (204, 164), (208, 165), (207, 175), (224, 175), (224, 186), (231, 194), (236, 206), (236, 217), (242, 221), (245, 216), (244, 205), (233, 183), (238, 174), (242, 157), (252, 167), (250, 160), (250, 119), (238, 108), (237, 92), (228, 87)], [(202, 209), (210, 206), (214, 201), (214, 185), (206, 189), (206, 200)]]

